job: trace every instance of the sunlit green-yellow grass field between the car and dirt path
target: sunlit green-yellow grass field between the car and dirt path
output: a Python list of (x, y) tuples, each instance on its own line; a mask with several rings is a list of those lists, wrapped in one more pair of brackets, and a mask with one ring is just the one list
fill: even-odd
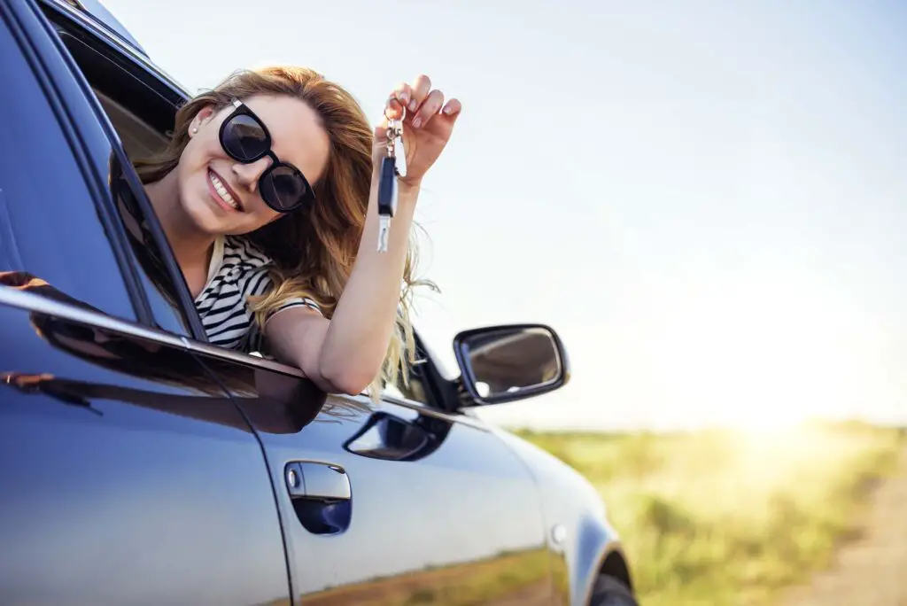
[(902, 430), (811, 424), (746, 434), (518, 432), (589, 478), (643, 606), (768, 604), (851, 539)]

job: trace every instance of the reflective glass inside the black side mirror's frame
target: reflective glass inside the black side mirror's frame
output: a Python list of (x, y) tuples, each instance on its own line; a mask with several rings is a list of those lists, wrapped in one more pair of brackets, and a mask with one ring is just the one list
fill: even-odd
[(461, 347), (467, 375), (486, 401), (550, 386), (563, 374), (557, 343), (543, 327), (478, 332), (463, 339)]

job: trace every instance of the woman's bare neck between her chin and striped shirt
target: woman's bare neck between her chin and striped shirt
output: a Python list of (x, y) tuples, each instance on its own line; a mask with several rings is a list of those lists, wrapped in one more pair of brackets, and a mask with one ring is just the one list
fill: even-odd
[(160, 181), (147, 183), (145, 192), (183, 273), (200, 264), (207, 266), (215, 236), (198, 230), (186, 214), (180, 204), (176, 171)]

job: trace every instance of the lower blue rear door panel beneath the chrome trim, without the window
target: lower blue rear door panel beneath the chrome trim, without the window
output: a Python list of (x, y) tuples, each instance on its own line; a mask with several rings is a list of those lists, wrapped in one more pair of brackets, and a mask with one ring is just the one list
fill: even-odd
[(0, 602), (286, 603), (273, 492), (229, 397), (180, 347), (40, 299), (0, 289)]

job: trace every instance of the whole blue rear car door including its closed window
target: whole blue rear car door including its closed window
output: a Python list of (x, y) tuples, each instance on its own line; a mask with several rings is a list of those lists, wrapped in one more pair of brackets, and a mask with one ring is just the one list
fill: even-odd
[(0, 0), (0, 603), (288, 603), (256, 435), (148, 326), (116, 154), (57, 43)]

